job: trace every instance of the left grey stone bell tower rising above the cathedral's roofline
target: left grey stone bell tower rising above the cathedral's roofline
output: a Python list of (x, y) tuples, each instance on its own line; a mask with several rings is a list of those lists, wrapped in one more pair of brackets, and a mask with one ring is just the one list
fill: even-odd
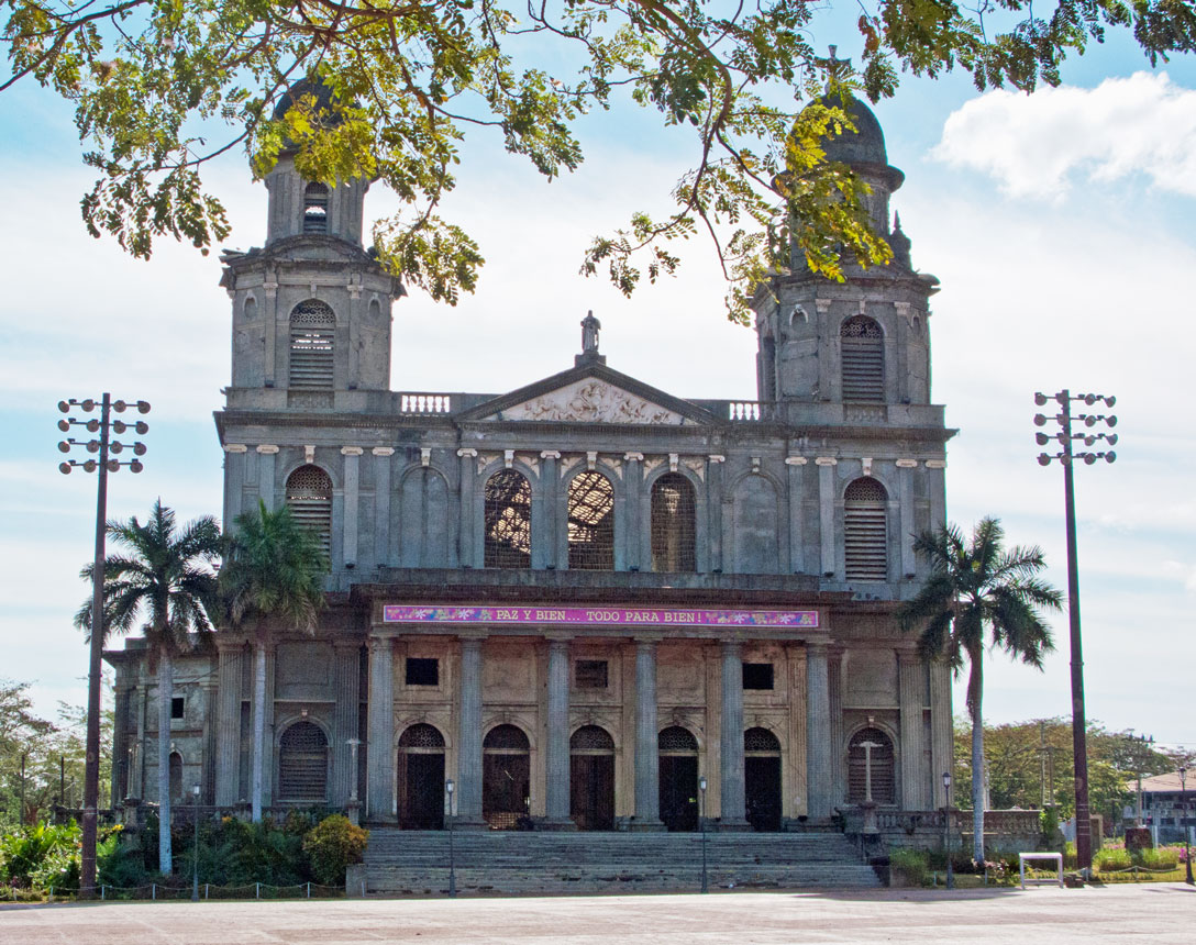
[[(329, 114), (331, 94), (305, 79), (275, 118), (300, 97)], [(361, 245), (370, 182), (309, 181), (297, 153), (283, 148), (266, 176), (266, 245), (222, 256), (233, 309), (230, 403), (239, 390), (264, 389), (277, 391), (263, 401), (270, 407), (334, 408), (353, 391), (390, 386), (391, 305), (404, 291)]]

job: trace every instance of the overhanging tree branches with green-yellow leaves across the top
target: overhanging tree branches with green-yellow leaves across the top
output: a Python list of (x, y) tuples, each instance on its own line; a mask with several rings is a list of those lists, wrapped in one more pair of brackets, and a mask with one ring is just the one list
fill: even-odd
[[(811, 268), (841, 275), (891, 254), (868, 231), (862, 184), (824, 161), (828, 130), (850, 128), (834, 87), (877, 100), (898, 71), (966, 69), (977, 87), (1056, 84), (1060, 63), (1131, 30), (1151, 62), (1196, 48), (1189, 0), (860, 0), (859, 72), (814, 53), (807, 0), (5, 0), (10, 75), (75, 103), (99, 175), (83, 200), (89, 231), (147, 257), (160, 236), (201, 250), (228, 234), (202, 165), (245, 148), (264, 175), (285, 147), (311, 179), (382, 179), (402, 211), (374, 227), (380, 262), (433, 298), (472, 291), (483, 263), (444, 215), (468, 133), (493, 133), (547, 178), (582, 159), (574, 133), (629, 96), (694, 135), (691, 169), (660, 213), (634, 212), (597, 237), (582, 270), (630, 293), (676, 269), (673, 240), (714, 239), (746, 318), (752, 285), (785, 267), (791, 240)], [(823, 37), (834, 39), (835, 37)], [(299, 79), (335, 91), (276, 111)], [(810, 108), (804, 105), (813, 102)], [(212, 127), (227, 133), (216, 138)], [(789, 221), (795, 220), (792, 227)]]

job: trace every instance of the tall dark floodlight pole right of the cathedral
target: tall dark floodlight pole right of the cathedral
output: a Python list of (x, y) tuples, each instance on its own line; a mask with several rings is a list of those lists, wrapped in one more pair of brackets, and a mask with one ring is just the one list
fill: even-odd
[[(1066, 388), (1058, 394), (1045, 395), (1035, 394), (1035, 403), (1038, 407), (1045, 406), (1049, 401), (1055, 401), (1060, 406), (1060, 413), (1054, 417), (1044, 414), (1035, 415), (1035, 426), (1042, 427), (1049, 420), (1054, 420), (1060, 426), (1057, 433), (1036, 434), (1039, 446), (1045, 446), (1055, 440), (1062, 450), (1054, 456), (1039, 453), (1039, 465), (1050, 465), (1052, 459), (1057, 459), (1063, 467), (1063, 502), (1067, 518), (1067, 611), (1072, 639), (1072, 749), (1075, 758), (1075, 859), (1076, 866), (1088, 874), (1092, 871), (1092, 816), (1088, 809), (1088, 745), (1084, 708), (1084, 648), (1080, 636), (1080, 574), (1079, 556), (1075, 548), (1075, 483), (1072, 476), (1072, 467), (1076, 459), (1082, 459), (1087, 465), (1092, 465), (1097, 459), (1112, 463), (1117, 453), (1112, 450), (1102, 452), (1074, 452), (1072, 444), (1082, 440), (1085, 446), (1094, 446), (1104, 440), (1109, 446), (1117, 443), (1116, 433), (1073, 433), (1072, 432), (1072, 402), (1082, 401), (1086, 407), (1093, 407), (1098, 401), (1103, 401), (1106, 407), (1112, 407), (1116, 397), (1103, 394), (1075, 394)], [(1117, 426), (1117, 417), (1104, 414), (1076, 414), (1074, 417), (1081, 421), (1090, 429), (1098, 422), (1104, 421), (1109, 427)]]

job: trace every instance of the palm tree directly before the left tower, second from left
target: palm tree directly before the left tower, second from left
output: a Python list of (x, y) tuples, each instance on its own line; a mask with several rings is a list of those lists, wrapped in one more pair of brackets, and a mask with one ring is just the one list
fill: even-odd
[(288, 506), (257, 508), (237, 516), (226, 539), (220, 590), (233, 627), (254, 632), (254, 773), (252, 817), (262, 819), (262, 758), (266, 738), (266, 650), (270, 632), (289, 626), (316, 632), (324, 603), (324, 557), (319, 537)]

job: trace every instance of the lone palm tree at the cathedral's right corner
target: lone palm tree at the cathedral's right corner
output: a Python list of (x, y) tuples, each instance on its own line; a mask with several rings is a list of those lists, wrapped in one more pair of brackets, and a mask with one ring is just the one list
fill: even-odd
[(1036, 575), (1046, 565), (1038, 545), (1001, 548), (1005, 531), (995, 518), (981, 519), (971, 541), (958, 525), (942, 525), (914, 539), (930, 566), (917, 595), (897, 610), (903, 630), (921, 629), (919, 652), (945, 659), (956, 676), (966, 660), (968, 714), (972, 725), (972, 859), (984, 860), (984, 647), (1003, 650), (1039, 670), (1055, 648), (1039, 608), (1058, 610), (1063, 596)]

